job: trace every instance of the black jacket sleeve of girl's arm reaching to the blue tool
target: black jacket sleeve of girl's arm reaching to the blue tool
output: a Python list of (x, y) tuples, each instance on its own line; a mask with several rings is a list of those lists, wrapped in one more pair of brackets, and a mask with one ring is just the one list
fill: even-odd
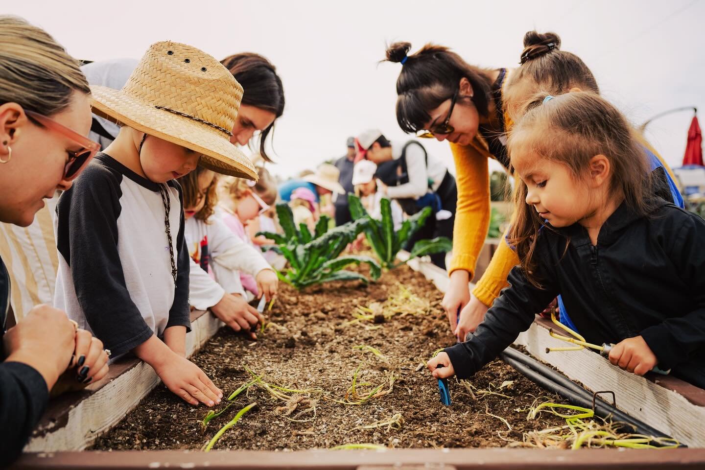
[[(539, 262), (543, 261), (541, 255), (534, 256)], [(515, 266), (507, 278), (509, 287), (495, 299), (477, 330), (467, 341), (444, 350), (458, 378), (472, 376), (496, 358), (519, 333), (528, 330), (536, 314), (556, 298), (558, 289), (551, 275), (540, 268), (537, 271), (541, 273), (541, 289), (527, 280), (520, 266)]]

